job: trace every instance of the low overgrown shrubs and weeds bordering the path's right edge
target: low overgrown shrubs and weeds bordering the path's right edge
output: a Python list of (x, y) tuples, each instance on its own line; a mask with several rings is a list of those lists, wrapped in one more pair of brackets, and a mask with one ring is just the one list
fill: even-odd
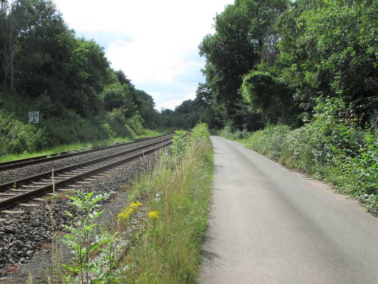
[(340, 100), (330, 99), (317, 106), (310, 123), (297, 129), (277, 124), (253, 133), (222, 130), (220, 135), (332, 183), (337, 192), (364, 201), (377, 215), (378, 130), (358, 127), (346, 111)]

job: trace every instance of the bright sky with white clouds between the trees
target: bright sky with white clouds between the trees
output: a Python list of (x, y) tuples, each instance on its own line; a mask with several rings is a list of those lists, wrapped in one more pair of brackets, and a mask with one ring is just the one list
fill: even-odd
[(55, 0), (77, 36), (105, 49), (156, 108), (174, 109), (195, 98), (205, 59), (198, 45), (213, 34), (213, 18), (233, 0)]

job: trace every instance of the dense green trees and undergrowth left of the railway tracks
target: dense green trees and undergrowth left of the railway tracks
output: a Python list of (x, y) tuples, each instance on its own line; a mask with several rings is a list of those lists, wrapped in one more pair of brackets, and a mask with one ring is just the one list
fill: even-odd
[[(78, 38), (50, 0), (0, 3), (0, 155), (132, 137), (158, 126), (153, 98)], [(28, 111), (40, 125), (26, 125)]]

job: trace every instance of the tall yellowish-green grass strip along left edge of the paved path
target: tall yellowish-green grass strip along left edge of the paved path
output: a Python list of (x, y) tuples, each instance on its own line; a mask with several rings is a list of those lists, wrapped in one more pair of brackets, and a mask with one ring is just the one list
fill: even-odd
[[(131, 199), (145, 198), (149, 219), (140, 243), (130, 248), (120, 283), (195, 283), (208, 225), (213, 151), (207, 138), (193, 142), (179, 159), (163, 156), (134, 186)], [(148, 218), (148, 216), (147, 216)]]

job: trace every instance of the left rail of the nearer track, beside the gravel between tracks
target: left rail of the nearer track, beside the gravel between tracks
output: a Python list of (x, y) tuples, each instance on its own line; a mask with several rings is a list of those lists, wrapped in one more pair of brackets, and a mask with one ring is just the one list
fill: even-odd
[[(101, 162), (101, 161), (104, 161), (104, 160), (107, 160), (107, 159), (110, 159), (110, 158), (114, 158), (114, 157), (118, 157), (118, 156), (125, 155), (125, 154), (128, 154), (128, 153), (132, 153), (132, 152), (135, 152), (135, 151), (138, 151), (138, 150), (141, 150), (141, 149), (144, 149), (144, 148), (147, 148), (147, 147), (168, 141), (171, 138), (172, 137), (170, 136), (170, 137), (164, 138), (163, 140), (160, 140), (158, 142), (149, 143), (147, 145), (143, 145), (143, 146), (140, 146), (140, 147), (137, 147), (137, 148), (134, 148), (134, 149), (129, 149), (129, 150), (118, 152), (118, 153), (111, 154), (111, 155), (108, 155), (108, 156), (96, 158), (96, 159), (93, 159), (93, 160), (90, 160), (90, 161), (87, 161), (87, 162), (83, 162), (83, 163), (79, 163), (79, 164), (75, 164), (75, 165), (72, 165), (72, 166), (59, 168), (59, 169), (54, 170), (54, 174), (60, 174), (60, 173), (67, 172), (67, 171), (72, 170), (72, 169), (84, 167), (84, 166), (87, 166), (87, 165), (90, 165), (90, 164), (95, 164), (97, 162)], [(37, 175), (34, 175), (34, 176), (30, 176), (30, 177), (27, 177), (27, 178), (20, 178), (20, 179), (16, 179), (16, 180), (12, 180), (12, 181), (2, 183), (2, 184), (0, 184), (0, 192), (3, 192), (4, 190), (11, 188), (14, 184), (16, 184), (16, 186), (18, 186), (20, 184), (25, 184), (27, 182), (33, 181), (33, 180), (38, 179), (38, 178), (51, 177), (52, 174), (53, 174), (53, 171), (48, 171), (48, 172), (44, 172), (44, 173), (37, 174)]]

